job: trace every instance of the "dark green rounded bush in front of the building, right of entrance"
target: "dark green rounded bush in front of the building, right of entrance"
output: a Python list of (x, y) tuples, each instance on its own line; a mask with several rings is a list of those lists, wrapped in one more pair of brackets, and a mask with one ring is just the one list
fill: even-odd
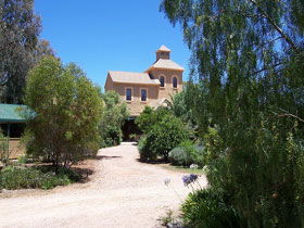
[(172, 114), (163, 116), (162, 121), (155, 123), (148, 131), (141, 151), (141, 160), (149, 161), (157, 156), (168, 159), (170, 150), (188, 138), (186, 126)]

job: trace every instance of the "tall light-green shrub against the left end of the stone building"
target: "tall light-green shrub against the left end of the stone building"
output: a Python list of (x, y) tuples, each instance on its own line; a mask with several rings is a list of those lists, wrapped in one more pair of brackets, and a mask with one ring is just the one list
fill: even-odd
[(102, 94), (105, 109), (100, 122), (101, 147), (113, 147), (122, 142), (122, 126), (128, 116), (127, 106), (121, 102), (119, 94), (106, 91)]

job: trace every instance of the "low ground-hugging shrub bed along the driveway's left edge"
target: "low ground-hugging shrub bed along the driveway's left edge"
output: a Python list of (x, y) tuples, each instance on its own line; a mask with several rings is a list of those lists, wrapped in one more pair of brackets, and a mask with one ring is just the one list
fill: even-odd
[(80, 176), (72, 170), (49, 167), (7, 166), (0, 172), (0, 189), (52, 189), (79, 181)]

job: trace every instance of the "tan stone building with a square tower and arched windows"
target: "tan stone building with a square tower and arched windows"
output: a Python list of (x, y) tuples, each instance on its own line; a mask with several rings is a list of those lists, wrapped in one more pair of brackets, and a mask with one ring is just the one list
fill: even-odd
[(116, 91), (126, 101), (132, 119), (145, 105), (157, 107), (180, 92), (182, 73), (183, 68), (170, 60), (170, 50), (162, 46), (156, 51), (156, 61), (143, 73), (110, 71), (104, 89)]

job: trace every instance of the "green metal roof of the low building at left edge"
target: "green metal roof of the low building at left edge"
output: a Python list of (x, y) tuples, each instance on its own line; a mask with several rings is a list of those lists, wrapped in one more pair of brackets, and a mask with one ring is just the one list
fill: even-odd
[(23, 123), (26, 122), (22, 116), (21, 110), (27, 109), (20, 104), (0, 104), (0, 123)]

